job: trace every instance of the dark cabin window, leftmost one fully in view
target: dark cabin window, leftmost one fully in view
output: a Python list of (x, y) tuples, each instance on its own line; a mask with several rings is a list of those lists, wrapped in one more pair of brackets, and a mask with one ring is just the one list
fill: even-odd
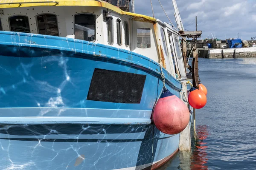
[(29, 18), (22, 15), (9, 17), (11, 31), (30, 33)]

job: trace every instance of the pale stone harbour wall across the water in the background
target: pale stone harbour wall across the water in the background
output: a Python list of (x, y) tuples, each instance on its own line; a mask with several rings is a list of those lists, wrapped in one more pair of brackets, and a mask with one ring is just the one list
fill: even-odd
[(200, 58), (238, 58), (256, 57), (256, 47), (249, 48), (225, 48), (225, 49), (203, 49), (198, 48)]

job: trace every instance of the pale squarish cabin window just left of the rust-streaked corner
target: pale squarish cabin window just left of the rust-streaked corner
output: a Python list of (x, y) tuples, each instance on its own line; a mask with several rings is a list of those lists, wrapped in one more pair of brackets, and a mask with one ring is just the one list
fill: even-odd
[(137, 47), (150, 48), (150, 28), (137, 29)]

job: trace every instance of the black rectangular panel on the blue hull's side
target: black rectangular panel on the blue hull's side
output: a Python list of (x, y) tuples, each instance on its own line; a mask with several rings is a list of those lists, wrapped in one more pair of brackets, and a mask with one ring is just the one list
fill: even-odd
[(146, 76), (95, 68), (87, 100), (140, 103)]

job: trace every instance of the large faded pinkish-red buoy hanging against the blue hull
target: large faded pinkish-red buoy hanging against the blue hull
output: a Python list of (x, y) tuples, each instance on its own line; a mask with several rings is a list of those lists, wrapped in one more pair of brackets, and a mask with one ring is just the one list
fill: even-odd
[(164, 89), (154, 108), (153, 121), (161, 132), (174, 135), (186, 128), (189, 115), (189, 109), (185, 103)]

